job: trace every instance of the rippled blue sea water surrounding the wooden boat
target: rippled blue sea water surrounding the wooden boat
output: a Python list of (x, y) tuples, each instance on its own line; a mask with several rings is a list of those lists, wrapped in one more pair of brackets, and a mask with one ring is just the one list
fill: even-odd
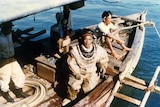
[[(110, 1), (110, 3), (105, 1)], [(73, 29), (99, 23), (101, 21), (101, 14), (104, 10), (110, 10), (116, 15), (124, 16), (141, 12), (145, 9), (148, 10), (147, 20), (149, 21), (152, 19), (152, 21), (155, 22), (156, 28), (160, 31), (160, 2), (158, 2), (158, 0), (86, 0), (85, 7), (71, 11)], [(34, 38), (33, 41), (46, 38), (49, 36), (50, 26), (56, 23), (55, 13), (58, 11), (62, 11), (62, 8), (58, 7), (14, 21), (14, 29), (34, 27), (33, 33), (46, 29), (46, 34)], [(150, 82), (154, 71), (159, 65), (160, 37), (158, 37), (153, 27), (146, 26), (143, 51), (133, 75)], [(158, 76), (158, 80), (160, 81), (160, 76)], [(158, 83), (158, 85), (160, 85), (160, 83)], [(123, 89), (123, 92), (138, 99), (141, 99), (143, 96), (141, 91), (132, 88), (125, 88)], [(115, 99), (112, 106), (136, 107), (133, 104), (129, 104), (119, 99)], [(145, 107), (160, 107), (160, 95), (151, 93)]]

